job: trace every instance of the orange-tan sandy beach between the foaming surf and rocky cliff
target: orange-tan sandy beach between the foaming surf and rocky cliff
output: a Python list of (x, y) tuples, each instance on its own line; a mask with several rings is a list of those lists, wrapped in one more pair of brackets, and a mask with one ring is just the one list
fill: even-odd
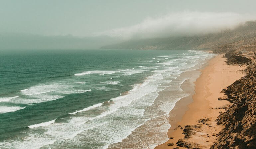
[[(220, 112), (224, 112), (224, 109), (217, 107), (229, 104), (226, 100), (218, 100), (218, 97), (224, 94), (220, 92), (223, 88), (243, 77), (245, 74), (241, 73), (240, 70), (246, 68), (246, 66), (226, 65), (226, 58), (222, 56), (223, 54), (220, 54), (209, 59), (207, 65), (200, 69), (200, 76), (194, 81), (194, 91), (190, 92), (189, 96), (176, 102), (174, 109), (169, 114), (171, 128), (167, 133), (168, 137), (173, 137), (173, 139), (169, 139), (156, 148), (178, 147), (176, 143), (185, 137), (181, 128), (186, 125), (197, 125), (198, 120), (202, 118), (210, 118), (208, 122), (210, 126), (203, 126), (200, 133), (194, 134), (197, 135), (196, 137), (190, 137), (186, 141), (207, 148), (213, 145), (216, 138), (215, 134), (218, 134), (222, 129), (222, 126), (217, 125), (215, 120)], [(186, 89), (188, 88), (186, 83), (181, 88), (185, 92), (191, 91), (191, 89)], [(179, 125), (181, 128), (177, 127)], [(208, 135), (209, 133), (212, 133), (212, 135)], [(168, 146), (168, 143), (174, 143), (174, 145)]]

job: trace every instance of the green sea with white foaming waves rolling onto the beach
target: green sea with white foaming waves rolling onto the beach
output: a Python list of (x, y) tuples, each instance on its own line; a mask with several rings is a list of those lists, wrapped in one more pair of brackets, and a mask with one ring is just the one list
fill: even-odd
[[(115, 143), (135, 135), (138, 128), (154, 127), (148, 123), (156, 118), (161, 127), (153, 130), (164, 141), (170, 107), (188, 95), (180, 89), (186, 78), (179, 76), (212, 56), (164, 50), (2, 53), (0, 146), (118, 147)], [(174, 94), (156, 102), (158, 93), (170, 86)], [(138, 148), (161, 142), (137, 143), (132, 142)]]

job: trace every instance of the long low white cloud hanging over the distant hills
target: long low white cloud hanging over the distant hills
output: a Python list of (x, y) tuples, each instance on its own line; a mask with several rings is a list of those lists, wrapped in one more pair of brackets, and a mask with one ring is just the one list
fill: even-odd
[(182, 12), (170, 13), (158, 18), (147, 18), (141, 23), (93, 34), (94, 36), (144, 39), (171, 36), (191, 36), (232, 29), (237, 25), (256, 19), (249, 14), (232, 12)]

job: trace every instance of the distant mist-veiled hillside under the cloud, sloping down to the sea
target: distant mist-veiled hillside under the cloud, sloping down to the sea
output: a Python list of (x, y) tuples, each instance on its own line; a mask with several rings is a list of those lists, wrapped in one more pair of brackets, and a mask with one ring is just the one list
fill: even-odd
[(169, 38), (131, 39), (119, 44), (101, 47), (102, 49), (138, 50), (205, 50), (239, 40), (256, 38), (256, 21), (247, 21), (234, 29), (224, 29), (216, 33), (194, 36), (174, 36)]

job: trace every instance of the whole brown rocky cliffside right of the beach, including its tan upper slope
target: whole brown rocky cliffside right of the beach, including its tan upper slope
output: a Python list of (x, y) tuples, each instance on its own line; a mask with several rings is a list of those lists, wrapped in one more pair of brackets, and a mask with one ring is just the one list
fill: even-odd
[[(246, 44), (244, 44), (246, 43)], [(215, 53), (226, 53), (227, 64), (246, 64), (247, 75), (223, 92), (232, 103), (217, 119), (225, 126), (211, 148), (256, 148), (256, 48), (255, 40), (240, 41), (218, 47)]]

